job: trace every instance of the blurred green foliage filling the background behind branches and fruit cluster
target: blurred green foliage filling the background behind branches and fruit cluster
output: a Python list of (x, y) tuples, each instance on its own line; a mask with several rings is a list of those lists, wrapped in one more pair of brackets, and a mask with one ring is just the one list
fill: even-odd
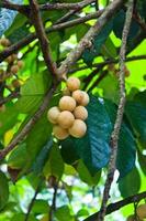
[[(38, 1), (46, 3), (47, 1)], [(69, 1), (65, 1), (69, 2)], [(77, 2), (77, 1), (75, 1)], [(15, 3), (22, 3), (16, 2)], [(24, 1), (24, 3), (29, 3)], [(106, 7), (108, 1), (99, 1), (99, 9)], [(145, 22), (145, 1), (136, 4), (137, 13)], [(94, 4), (88, 6), (71, 19), (94, 12)], [(48, 28), (66, 13), (66, 10), (45, 11), (42, 18)], [(4, 18), (4, 19), (3, 19)], [(122, 28), (125, 12), (123, 9), (104, 27), (93, 40), (93, 46), (86, 50), (82, 57), (71, 67), (68, 75), (78, 76), (82, 88), (90, 94), (88, 134), (82, 139), (58, 143), (53, 139), (52, 125), (47, 122), (46, 112), (35, 124), (27, 137), (1, 161), (0, 172), (0, 220), (22, 221), (37, 186), (40, 191), (30, 213), (30, 221), (41, 220), (52, 208), (54, 188), (57, 185), (56, 211), (54, 220), (83, 220), (100, 209), (105, 181), (106, 164), (110, 157), (109, 139), (115, 119), (119, 102), (117, 62), (114, 65), (94, 65), (119, 57)], [(13, 21), (13, 22), (12, 22)], [(75, 48), (94, 20), (48, 33), (53, 59), (60, 64), (67, 53)], [(10, 10), (0, 9), (0, 34), (4, 34), (11, 43), (33, 33), (34, 28), (26, 18)], [(128, 35), (127, 57), (145, 55), (146, 40), (136, 44), (137, 36), (143, 32), (137, 22), (133, 21)], [(3, 48), (0, 48), (2, 51)], [(24, 67), (16, 76), (11, 76), (5, 84), (11, 86), (13, 78), (21, 82), (21, 96), (5, 104), (0, 112), (0, 147), (3, 149), (11, 139), (21, 131), (23, 126), (36, 112), (50, 86), (52, 76), (43, 60), (38, 41), (35, 40), (19, 51), (18, 56), (24, 61)], [(5, 70), (3, 61), (0, 69)], [(86, 66), (86, 69), (81, 69)], [(122, 125), (117, 169), (111, 190), (110, 202), (145, 190), (146, 182), (146, 61), (126, 62), (127, 103)], [(80, 70), (81, 71), (78, 71)], [(94, 71), (97, 70), (97, 71)], [(104, 77), (102, 78), (102, 75)], [(61, 83), (50, 106), (58, 103), (61, 96)], [(4, 88), (3, 96), (10, 94)], [(47, 109), (48, 109), (47, 108)], [(60, 148), (61, 147), (61, 148)], [(99, 155), (99, 152), (101, 155)], [(119, 179), (120, 178), (120, 179)], [(40, 180), (42, 182), (40, 183)], [(125, 220), (134, 211), (127, 206), (108, 215), (105, 220)]]

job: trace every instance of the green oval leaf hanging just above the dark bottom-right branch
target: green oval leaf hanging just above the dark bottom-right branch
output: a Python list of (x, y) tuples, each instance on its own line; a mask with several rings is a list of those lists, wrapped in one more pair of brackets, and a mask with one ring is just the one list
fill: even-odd
[(141, 177), (138, 170), (134, 168), (126, 177), (119, 182), (119, 189), (123, 198), (138, 193), (141, 188)]

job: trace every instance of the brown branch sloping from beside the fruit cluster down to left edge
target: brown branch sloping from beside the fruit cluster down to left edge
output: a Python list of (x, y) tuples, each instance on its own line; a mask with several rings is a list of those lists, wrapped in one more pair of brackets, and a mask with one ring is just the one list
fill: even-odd
[(47, 108), (50, 98), (53, 97), (54, 92), (56, 91), (57, 85), (52, 86), (49, 92), (44, 97), (44, 101), (33, 117), (27, 122), (27, 124), (23, 127), (20, 134), (3, 149), (0, 150), (0, 160), (3, 159), (18, 144), (20, 144), (29, 131), (33, 128), (36, 122), (41, 118), (45, 109)]

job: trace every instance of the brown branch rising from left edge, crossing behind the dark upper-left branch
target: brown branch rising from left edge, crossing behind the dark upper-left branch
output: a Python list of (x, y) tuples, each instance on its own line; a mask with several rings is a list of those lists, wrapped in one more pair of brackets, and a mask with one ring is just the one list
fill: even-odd
[[(79, 19), (75, 19), (72, 21), (67, 21), (67, 22), (64, 22), (64, 23), (55, 24), (55, 25), (46, 29), (46, 33), (59, 31), (61, 29), (66, 29), (66, 28), (74, 27), (76, 24), (83, 23), (83, 22), (89, 21), (91, 19), (99, 18), (102, 14), (102, 12), (103, 12), (103, 10), (97, 11), (94, 13), (90, 13), (90, 14), (88, 14), (86, 17), (82, 17), (82, 18), (79, 18)], [(15, 43), (15, 44), (9, 46), (8, 49), (5, 49), (4, 51), (0, 52), (0, 62), (4, 61), (11, 54), (18, 52), (20, 49), (26, 46), (32, 41), (34, 41), (36, 38), (37, 38), (37, 35), (35, 33), (34, 34), (29, 34), (27, 36), (25, 36), (24, 39), (22, 39), (18, 43)]]

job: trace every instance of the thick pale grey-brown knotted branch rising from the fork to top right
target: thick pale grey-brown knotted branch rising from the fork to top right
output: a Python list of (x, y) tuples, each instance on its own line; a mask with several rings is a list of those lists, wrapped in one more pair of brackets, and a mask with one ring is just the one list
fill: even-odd
[(106, 7), (105, 11), (101, 14), (99, 20), (96, 22), (93, 27), (87, 32), (87, 34), (81, 39), (78, 45), (72, 50), (67, 59), (61, 63), (58, 69), (58, 73), (68, 73), (70, 66), (81, 56), (82, 52), (86, 48), (90, 48), (92, 45), (93, 38), (100, 33), (103, 27), (108, 23), (108, 21), (115, 14), (117, 9), (122, 6), (123, 0), (115, 0), (110, 6)]

